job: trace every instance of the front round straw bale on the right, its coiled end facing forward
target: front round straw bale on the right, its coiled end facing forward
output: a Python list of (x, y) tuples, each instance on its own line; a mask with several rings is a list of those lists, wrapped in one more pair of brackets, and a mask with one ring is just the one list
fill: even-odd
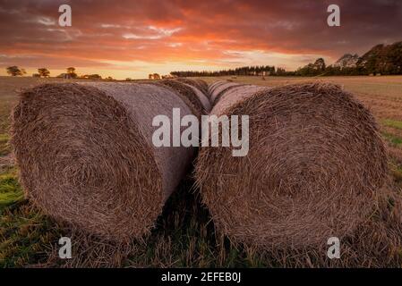
[(229, 89), (211, 114), (250, 116), (247, 156), (201, 147), (195, 170), (203, 203), (232, 240), (326, 245), (371, 214), (387, 158), (372, 114), (351, 94), (323, 83), (245, 86)]

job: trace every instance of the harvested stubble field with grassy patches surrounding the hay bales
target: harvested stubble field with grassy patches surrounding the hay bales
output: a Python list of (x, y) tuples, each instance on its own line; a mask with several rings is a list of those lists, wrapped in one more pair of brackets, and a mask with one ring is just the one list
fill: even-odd
[[(269, 87), (312, 80), (280, 77), (266, 77), (266, 80), (259, 77), (228, 79), (241, 84)], [(213, 82), (221, 79), (203, 80)], [(235, 245), (215, 231), (208, 209), (201, 205), (199, 190), (192, 187), (193, 181), (189, 177), (184, 179), (179, 189), (167, 199), (167, 205), (158, 217), (146, 243), (136, 241), (128, 248), (122, 248), (110, 241), (74, 231), (63, 223), (56, 223), (24, 198), (18, 182), (18, 172), (13, 160), (9, 159), (7, 134), (10, 125), (9, 114), (17, 102), (21, 88), (60, 80), (0, 77), (0, 118), (3, 123), (0, 137), (4, 138), (0, 140), (0, 147), (5, 148), (2, 162), (7, 162), (0, 170), (0, 266), (400, 267), (402, 247), (398, 231), (402, 216), (402, 137), (398, 126), (399, 122), (402, 122), (402, 114), (401, 109), (395, 110), (393, 106), (398, 106), (398, 102), (402, 100), (402, 77), (332, 77), (317, 80), (342, 85), (371, 110), (376, 121), (380, 123), (381, 135), (387, 143), (389, 153), (388, 192), (383, 192), (384, 196), (370, 219), (358, 227), (355, 235), (343, 242), (345, 258), (340, 261), (329, 261), (326, 257), (327, 245), (324, 246), (325, 249), (276, 249), (268, 253)], [(75, 250), (73, 259), (60, 260), (57, 257), (57, 241), (60, 236), (72, 238)], [(121, 251), (116, 253), (115, 249)], [(358, 256), (359, 253), (365, 253), (365, 257)]]

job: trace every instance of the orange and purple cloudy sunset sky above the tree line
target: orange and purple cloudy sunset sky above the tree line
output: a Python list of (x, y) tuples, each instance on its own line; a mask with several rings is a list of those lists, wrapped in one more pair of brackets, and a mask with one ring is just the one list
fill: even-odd
[[(59, 25), (59, 6), (72, 26)], [(329, 4), (340, 26), (329, 27)], [(51, 76), (73, 66), (115, 79), (149, 73), (334, 63), (402, 40), (399, 0), (0, 0), (0, 75), (18, 65)]]

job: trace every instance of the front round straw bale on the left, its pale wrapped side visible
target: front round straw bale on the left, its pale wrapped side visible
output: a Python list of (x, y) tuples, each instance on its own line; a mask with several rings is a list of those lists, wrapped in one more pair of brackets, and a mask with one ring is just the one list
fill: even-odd
[(152, 144), (152, 119), (171, 119), (173, 108), (192, 114), (170, 89), (150, 84), (46, 84), (23, 92), (11, 143), (28, 198), (108, 240), (148, 234), (195, 154)]

